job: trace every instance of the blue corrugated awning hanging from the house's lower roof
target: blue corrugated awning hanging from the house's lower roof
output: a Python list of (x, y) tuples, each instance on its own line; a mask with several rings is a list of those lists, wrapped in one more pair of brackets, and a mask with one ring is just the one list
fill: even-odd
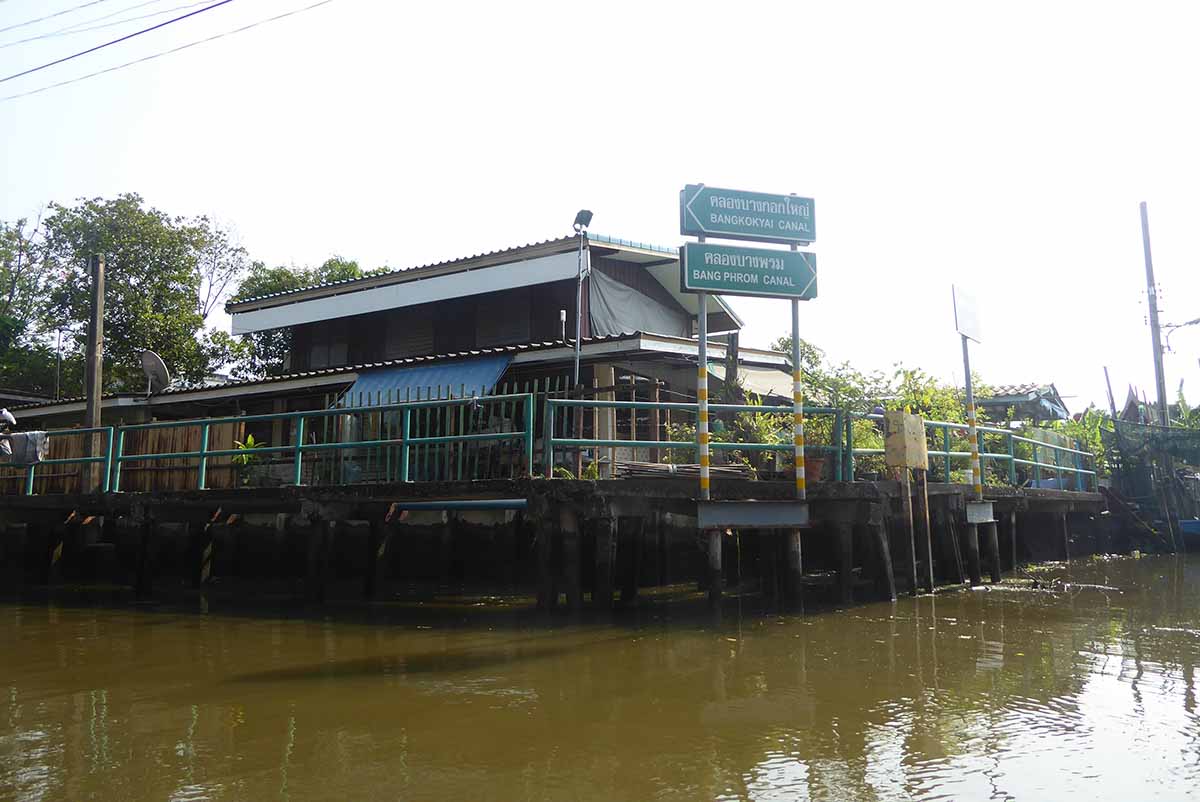
[(368, 407), (400, 401), (487, 395), (512, 361), (510, 355), (479, 357), (444, 363), (359, 371), (342, 396), (343, 407)]

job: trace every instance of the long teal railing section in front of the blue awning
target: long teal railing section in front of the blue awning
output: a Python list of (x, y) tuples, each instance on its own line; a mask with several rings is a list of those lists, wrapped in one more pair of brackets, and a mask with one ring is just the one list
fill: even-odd
[[(523, 423), (523, 429), (504, 431), (502, 427), (499, 431), (463, 431), (462, 421), (468, 412), (474, 411), (480, 406), (494, 405), (504, 405), (504, 408), (506, 408), (508, 405), (511, 405), (511, 412), (514, 413), (516, 412), (516, 407), (520, 406), (520, 417), (516, 419)], [(462, 414), (449, 414), (450, 412), (458, 412)], [(134, 424), (131, 426), (121, 426), (116, 431), (116, 451), (113, 457), (113, 478), (110, 484), (114, 492), (119, 492), (121, 490), (121, 469), (125, 465), (131, 462), (197, 460), (196, 486), (199, 490), (205, 490), (208, 484), (209, 460), (211, 457), (257, 457), (266, 454), (290, 454), (290, 484), (301, 485), (304, 484), (304, 457), (306, 454), (330, 451), (338, 453), (349, 449), (365, 449), (367, 455), (386, 450), (388, 454), (385, 455), (385, 459), (383, 459), (386, 469), (383, 472), (383, 475), (388, 479), (394, 478), (398, 481), (409, 481), (414, 472), (419, 472), (420, 478), (427, 478), (428, 475), (432, 475), (433, 471), (439, 471), (442, 465), (445, 466), (445, 478), (449, 478), (454, 473), (454, 467), (457, 467), (460, 475), (462, 474), (464, 461), (464, 451), (462, 447), (503, 441), (521, 442), (521, 461), (527, 475), (532, 475), (534, 465), (534, 395), (532, 393), (520, 393), (509, 395), (491, 395), (478, 399), (434, 399), (430, 401), (406, 401), (383, 406), (338, 407), (332, 409), (286, 412), (262, 415), (235, 415), (228, 418), (202, 418), (194, 420), (169, 420), (150, 424)], [(342, 415), (358, 415), (359, 425), (364, 429), (366, 427), (364, 425), (365, 417), (377, 417), (372, 427), (377, 429), (382, 436), (368, 439), (358, 438), (338, 439), (332, 442), (305, 442), (306, 432), (310, 432), (310, 421), (314, 419), (326, 420)], [(452, 423), (448, 421), (457, 420), (460, 421), (458, 432), (430, 435), (428, 432), (432, 430), (431, 420), (438, 425), (446, 426), (448, 429), (452, 425)], [(252, 449), (209, 448), (209, 435), (214, 426), (222, 424), (275, 421), (289, 424), (292, 435), (288, 443), (278, 445), (258, 445)], [(126, 453), (126, 435), (130, 432), (181, 427), (200, 429), (199, 449), (191, 451), (151, 451), (140, 454)], [(421, 433), (414, 433), (414, 430)], [(328, 431), (323, 432), (325, 436), (328, 436)], [(460, 447), (457, 453), (451, 451), (450, 447), (454, 445)], [(434, 453), (433, 449), (438, 447), (445, 448), (440, 448), (439, 451)], [(383, 455), (377, 454), (377, 459), (380, 456)], [(392, 462), (392, 456), (395, 456), (395, 463)], [(431, 461), (433, 463), (433, 471), (431, 471)], [(392, 467), (395, 467), (395, 471), (392, 471)], [(344, 471), (338, 472), (338, 483), (336, 484), (346, 484)]]

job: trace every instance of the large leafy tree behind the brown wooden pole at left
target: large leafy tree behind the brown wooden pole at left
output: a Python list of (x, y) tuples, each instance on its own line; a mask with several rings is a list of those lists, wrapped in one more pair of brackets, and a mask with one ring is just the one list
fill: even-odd
[(144, 348), (158, 352), (174, 375), (203, 378), (209, 353), (197, 339), (204, 324), (199, 259), (210, 241), (211, 231), (146, 208), (134, 193), (52, 204), (44, 223), (43, 330), (64, 327), (72, 348), (82, 348), (91, 295), (88, 258), (103, 253), (106, 390), (142, 387)]

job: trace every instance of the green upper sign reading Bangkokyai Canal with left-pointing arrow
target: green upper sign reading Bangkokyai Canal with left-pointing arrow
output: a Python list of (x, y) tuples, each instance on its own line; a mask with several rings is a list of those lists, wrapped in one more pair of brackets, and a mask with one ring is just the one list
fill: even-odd
[(816, 239), (812, 198), (689, 184), (679, 193), (679, 233), (806, 244)]

